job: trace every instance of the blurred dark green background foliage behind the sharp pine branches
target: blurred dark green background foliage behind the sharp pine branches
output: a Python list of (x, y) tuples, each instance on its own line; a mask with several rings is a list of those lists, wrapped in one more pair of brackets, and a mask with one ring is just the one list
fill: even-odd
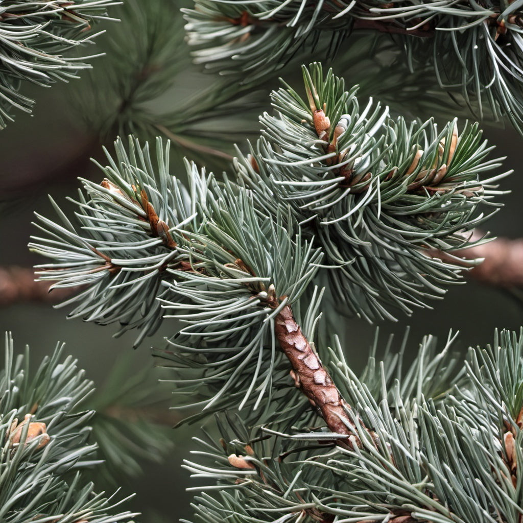
[[(228, 155), (234, 154), (234, 142), (245, 150), (245, 139), (257, 135), (257, 115), (270, 111), (268, 92), (279, 85), (278, 73), (263, 83), (243, 85), (241, 78), (206, 74), (201, 66), (191, 64), (179, 13), (180, 7), (189, 4), (127, 0), (123, 6), (113, 7), (111, 16), (121, 22), (107, 22), (107, 32), (97, 39), (96, 49), (89, 49), (90, 53), (107, 53), (93, 61), (93, 70), (50, 89), (28, 86), (26, 92), (37, 100), (32, 115), (18, 113), (15, 122), (0, 132), (0, 266), (29, 267), (40, 261), (27, 251), (29, 235), (34, 232), (32, 212), (49, 214), (47, 194), (61, 203), (66, 196), (74, 196), (78, 176), (99, 181), (101, 173), (89, 158), (103, 163), (101, 145), (112, 149), (117, 135), (132, 132), (140, 139), (151, 139), (160, 134), (172, 140), (172, 172), (178, 176), (184, 170), (184, 156), (221, 172), (227, 168)], [(362, 99), (382, 99), (393, 112), (436, 120), (455, 114), (474, 119), (464, 104), (456, 104), (456, 96), (435, 95), (433, 73), (410, 73), (402, 56), (393, 53), (389, 38), (362, 34), (335, 58), (327, 58), (326, 65), (332, 63), (347, 86), (359, 83)], [(372, 46), (380, 49), (376, 59), (371, 58)], [(294, 56), (279, 74), (290, 84), (299, 83), (299, 65), (324, 60), (327, 47), (325, 42), (317, 42)], [(505, 208), (487, 228), (498, 236), (523, 236), (521, 138), (512, 128), (494, 127), (492, 122), (484, 122), (483, 127), (485, 137), (497, 147), (496, 155), (508, 157), (505, 169), (515, 170), (502, 183), (503, 189), (512, 191), (503, 198)], [(434, 334), (443, 340), (449, 329), (460, 331), (457, 348), (485, 345), (491, 342), (495, 327), (519, 329), (522, 303), (515, 293), (470, 281), (451, 288), (444, 300), (433, 302), (433, 310), (416, 311), (395, 324), (383, 322), (382, 346), (390, 333), (401, 337), (406, 325), (411, 326), (408, 346), (413, 355), (423, 335)], [(12, 331), (19, 347), (29, 344), (36, 360), (56, 341), (65, 342), (66, 353), (77, 357), (79, 366), (98, 385), (98, 395), (88, 400), (99, 411), (95, 434), (108, 435), (104, 439), (120, 448), (123, 445), (132, 455), (106, 469), (101, 481), (109, 489), (116, 481), (123, 485), (124, 494), (138, 492), (129, 508), (142, 511), (142, 521), (189, 517), (191, 496), (184, 492), (189, 478), (180, 463), (194, 448), (190, 440), (194, 427), (170, 428), (181, 414), (168, 410), (172, 406), (169, 384), (156, 384), (162, 374), (153, 368), (147, 348), (163, 346), (162, 333), (169, 334), (169, 322), (164, 323), (162, 333), (133, 350), (134, 333), (115, 339), (111, 327), (66, 321), (65, 314), (46, 303), (12, 304), (0, 309), (0, 331)], [(347, 319), (345, 332), (339, 333), (355, 370), (367, 360), (363, 348), (371, 346), (375, 329), (358, 319)], [(111, 371), (113, 368), (116, 370)], [(111, 445), (103, 452), (116, 455)]]

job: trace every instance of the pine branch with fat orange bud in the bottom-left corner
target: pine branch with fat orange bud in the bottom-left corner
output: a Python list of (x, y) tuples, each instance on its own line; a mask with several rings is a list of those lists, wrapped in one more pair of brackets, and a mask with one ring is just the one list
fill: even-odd
[[(29, 375), (28, 348), (15, 356), (6, 334), (5, 365), (0, 371), (0, 518), (68, 523), (130, 521), (136, 514), (115, 510), (121, 501), (106, 498), (86, 481), (96, 445), (86, 443), (93, 411), (78, 404), (93, 390), (62, 348)], [(126, 501), (126, 500), (123, 500)]]

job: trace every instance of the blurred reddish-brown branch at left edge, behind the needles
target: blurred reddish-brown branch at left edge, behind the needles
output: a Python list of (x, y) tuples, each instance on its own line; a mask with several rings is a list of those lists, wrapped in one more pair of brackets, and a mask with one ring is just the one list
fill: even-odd
[(0, 267), (0, 307), (31, 301), (56, 303), (78, 290), (56, 289), (49, 292), (49, 286), (48, 282), (35, 281), (32, 268)]

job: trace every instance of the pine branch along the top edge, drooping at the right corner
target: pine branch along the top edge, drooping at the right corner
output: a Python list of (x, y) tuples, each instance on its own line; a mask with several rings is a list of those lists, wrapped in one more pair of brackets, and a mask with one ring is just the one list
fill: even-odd
[[(355, 29), (390, 33), (397, 53), (417, 67), (429, 64), (441, 89), (461, 93), (483, 118), (507, 118), (523, 129), (521, 27), (516, 3), (450, 2), (217, 2), (184, 10), (197, 63), (243, 83), (281, 69), (309, 42), (331, 38), (326, 59), (354, 39)], [(386, 76), (385, 76), (386, 78)]]

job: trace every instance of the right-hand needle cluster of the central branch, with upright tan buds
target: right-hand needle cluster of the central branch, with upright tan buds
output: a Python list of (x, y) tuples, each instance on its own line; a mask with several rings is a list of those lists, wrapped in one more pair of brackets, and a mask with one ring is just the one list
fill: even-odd
[(478, 175), (501, 158), (486, 160), (491, 148), (476, 125), (461, 136), (455, 121), (442, 131), (432, 121), (408, 126), (372, 100), (360, 113), (356, 88), (346, 92), (318, 64), (304, 68), (304, 80), (305, 98), (290, 87), (272, 94), (279, 113), (261, 118), (262, 138), (238, 155), (236, 175), (260, 208), (289, 202), (327, 265), (339, 267), (328, 272), (333, 291), (355, 314), (394, 319), (389, 306), (410, 314), (459, 281), (467, 261), (425, 251), (468, 244), (465, 231), (486, 219), (474, 215), (492, 205), (491, 184), (504, 176)]

